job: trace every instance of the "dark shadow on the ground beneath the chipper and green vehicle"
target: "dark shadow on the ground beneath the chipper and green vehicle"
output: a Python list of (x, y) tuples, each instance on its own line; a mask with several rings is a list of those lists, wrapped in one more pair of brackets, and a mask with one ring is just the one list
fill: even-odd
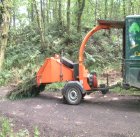
[[(63, 99), (61, 96), (53, 96), (50, 94), (41, 94), (37, 98), (41, 100), (50, 100), (55, 103), (63, 103)], [(91, 107), (91, 109), (96, 106), (100, 108), (108, 108), (119, 111), (133, 111), (140, 112), (140, 96), (117, 96), (118, 100), (112, 100), (113, 97), (108, 97), (108, 99), (103, 99), (100, 97), (83, 99), (79, 104), (81, 107)], [(67, 104), (66, 104), (67, 105)]]

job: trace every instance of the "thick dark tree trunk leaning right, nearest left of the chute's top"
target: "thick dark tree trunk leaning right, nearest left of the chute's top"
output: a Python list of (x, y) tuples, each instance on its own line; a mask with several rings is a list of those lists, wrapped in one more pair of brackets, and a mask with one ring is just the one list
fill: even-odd
[(77, 32), (81, 33), (81, 17), (85, 7), (85, 0), (78, 0)]

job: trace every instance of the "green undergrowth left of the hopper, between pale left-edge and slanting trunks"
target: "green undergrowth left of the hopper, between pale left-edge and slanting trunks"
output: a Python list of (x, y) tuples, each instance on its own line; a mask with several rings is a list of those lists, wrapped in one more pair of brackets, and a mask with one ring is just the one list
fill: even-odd
[(0, 85), (25, 80), (38, 70), (46, 56), (40, 52), (39, 43), (37, 30), (31, 26), (11, 30)]

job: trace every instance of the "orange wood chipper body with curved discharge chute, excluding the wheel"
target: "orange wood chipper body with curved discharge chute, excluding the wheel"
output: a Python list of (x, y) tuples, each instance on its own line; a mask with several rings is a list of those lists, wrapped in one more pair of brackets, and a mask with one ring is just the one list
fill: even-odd
[(44, 64), (37, 72), (37, 85), (49, 84), (54, 82), (63, 81), (78, 81), (82, 85), (83, 90), (91, 91), (97, 89), (97, 77), (96, 74), (90, 75), (85, 68), (84, 62), (84, 50), (86, 43), (90, 36), (101, 29), (109, 29), (109, 26), (98, 25), (93, 28), (84, 38), (79, 51), (79, 62), (73, 63), (66, 58), (60, 58), (59, 55), (55, 57), (47, 58)]

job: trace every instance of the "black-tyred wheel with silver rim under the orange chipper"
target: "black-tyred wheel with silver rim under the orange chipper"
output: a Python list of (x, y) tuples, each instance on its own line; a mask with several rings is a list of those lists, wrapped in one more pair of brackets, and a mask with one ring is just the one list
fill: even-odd
[(64, 88), (64, 96), (68, 104), (70, 105), (77, 105), (81, 102), (82, 93), (78, 86), (69, 85)]

